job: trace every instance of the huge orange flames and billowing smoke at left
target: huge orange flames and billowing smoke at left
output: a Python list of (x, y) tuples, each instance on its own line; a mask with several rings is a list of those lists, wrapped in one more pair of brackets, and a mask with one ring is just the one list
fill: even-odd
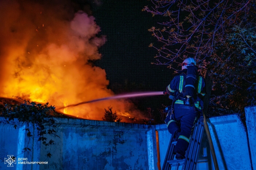
[[(107, 88), (105, 70), (91, 62), (101, 58), (98, 48), (106, 41), (97, 35), (100, 27), (95, 18), (82, 11), (72, 13), (67, 4), (56, 2), (0, 0), (0, 96), (43, 103), (47, 100), (58, 110), (68, 104), (113, 95)], [(108, 106), (119, 115), (139, 116), (138, 111), (131, 110), (133, 104), (125, 100), (59, 111), (102, 120)]]

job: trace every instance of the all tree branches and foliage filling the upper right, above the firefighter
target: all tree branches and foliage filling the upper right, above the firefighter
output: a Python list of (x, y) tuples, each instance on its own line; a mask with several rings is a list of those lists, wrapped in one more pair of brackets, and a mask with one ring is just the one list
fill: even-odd
[[(151, 0), (159, 17), (149, 29), (159, 41), (156, 63), (174, 70), (187, 57), (213, 80), (209, 115), (244, 112), (256, 103), (254, 0)], [(151, 6), (151, 5), (150, 5)]]

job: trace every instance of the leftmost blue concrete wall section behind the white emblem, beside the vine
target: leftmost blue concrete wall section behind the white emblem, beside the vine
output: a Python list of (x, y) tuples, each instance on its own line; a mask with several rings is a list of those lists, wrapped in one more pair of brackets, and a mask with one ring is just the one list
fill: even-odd
[[(13, 126), (17, 125), (15, 129)], [(33, 126), (19, 123), (17, 120), (10, 121), (10, 123), (6, 123), (6, 119), (0, 117), (0, 169), (15, 169), (15, 170), (25, 170), (25, 169), (34, 169), (38, 170), (39, 165), (37, 164), (19, 164), (19, 158), (27, 158), (28, 162), (38, 161), (39, 160), (39, 150), (40, 145), (38, 145), (36, 138), (27, 137), (27, 132), (25, 129), (29, 129), (31, 135), (36, 136), (34, 134)], [(36, 140), (36, 141), (35, 141)], [(40, 142), (39, 142), (40, 144)], [(24, 148), (30, 148), (33, 152), (29, 153), (24, 152)], [(12, 163), (13, 167), (7, 167), (8, 164), (5, 160), (7, 159), (7, 155), (13, 155), (16, 158), (16, 164)], [(6, 158), (6, 159), (4, 159)]]

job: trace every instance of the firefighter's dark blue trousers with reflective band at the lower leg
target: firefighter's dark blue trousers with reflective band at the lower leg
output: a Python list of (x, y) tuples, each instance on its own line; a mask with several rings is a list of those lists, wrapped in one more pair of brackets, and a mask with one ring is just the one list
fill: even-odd
[(198, 111), (195, 111), (192, 106), (174, 104), (174, 114), (171, 116), (167, 115), (165, 119), (168, 131), (173, 137), (178, 139), (174, 152), (185, 156), (197, 116)]

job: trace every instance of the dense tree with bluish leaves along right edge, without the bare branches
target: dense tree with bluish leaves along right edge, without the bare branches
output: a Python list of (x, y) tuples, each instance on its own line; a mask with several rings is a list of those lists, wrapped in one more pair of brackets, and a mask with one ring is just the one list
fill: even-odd
[(223, 46), (210, 57), (212, 113), (244, 113), (244, 107), (256, 104), (256, 6), (252, 1), (247, 8), (244, 18), (238, 17), (240, 21), (227, 28)]

